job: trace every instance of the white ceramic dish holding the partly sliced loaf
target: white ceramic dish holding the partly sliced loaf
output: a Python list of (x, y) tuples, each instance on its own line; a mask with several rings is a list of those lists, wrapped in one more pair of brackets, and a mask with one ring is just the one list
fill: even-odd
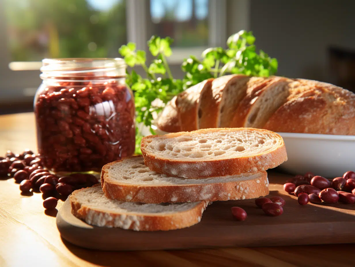
[[(159, 129), (157, 134), (166, 134)], [(278, 168), (290, 174), (313, 172), (326, 178), (355, 171), (355, 135), (278, 133), (285, 141), (288, 161)]]

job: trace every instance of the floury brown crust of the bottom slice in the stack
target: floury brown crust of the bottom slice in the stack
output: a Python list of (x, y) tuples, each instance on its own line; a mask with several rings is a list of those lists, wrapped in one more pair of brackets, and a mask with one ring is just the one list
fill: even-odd
[[(93, 185), (100, 187), (100, 184)], [(84, 190), (79, 189), (79, 190)], [(76, 190), (78, 191), (78, 190)], [(158, 230), (175, 230), (185, 227), (190, 227), (200, 222), (202, 213), (206, 209), (207, 202), (201, 201), (190, 210), (166, 213), (164, 215), (155, 215), (153, 213), (116, 213), (101, 210), (99, 208), (91, 208), (81, 204), (76, 198), (76, 191), (69, 196), (72, 207), (72, 214), (86, 222), (91, 222), (92, 225), (97, 225), (95, 222), (100, 222), (97, 226), (117, 227), (116, 224), (122, 220), (129, 220), (130, 223), (124, 229), (136, 231), (158, 231)]]

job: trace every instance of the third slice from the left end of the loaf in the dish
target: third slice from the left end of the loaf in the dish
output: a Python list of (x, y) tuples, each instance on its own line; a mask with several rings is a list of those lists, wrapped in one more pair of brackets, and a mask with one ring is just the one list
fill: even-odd
[[(222, 76), (212, 81), (211, 90), (206, 90), (201, 95), (201, 104), (198, 110), (200, 129), (220, 127), (222, 118), (223, 124), (228, 121), (228, 112), (233, 110), (239, 100), (244, 96), (239, 88), (244, 85), (248, 76), (232, 74)], [(220, 114), (225, 115), (220, 116)]]

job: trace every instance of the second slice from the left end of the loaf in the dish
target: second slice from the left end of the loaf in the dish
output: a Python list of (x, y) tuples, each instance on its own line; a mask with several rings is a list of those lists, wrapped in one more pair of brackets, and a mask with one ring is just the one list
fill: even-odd
[(213, 79), (204, 80), (193, 85), (178, 95), (176, 107), (178, 109), (181, 131), (193, 131), (199, 129), (198, 107), (201, 103), (201, 96), (204, 91), (211, 91)]

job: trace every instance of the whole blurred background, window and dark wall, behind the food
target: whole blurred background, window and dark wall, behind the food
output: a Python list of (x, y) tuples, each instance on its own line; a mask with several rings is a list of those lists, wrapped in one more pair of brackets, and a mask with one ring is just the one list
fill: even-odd
[(177, 78), (184, 58), (247, 29), (279, 75), (355, 91), (354, 10), (351, 0), (0, 0), (0, 113), (32, 110), (43, 58), (119, 57), (127, 41), (147, 50), (152, 34), (175, 40)]

